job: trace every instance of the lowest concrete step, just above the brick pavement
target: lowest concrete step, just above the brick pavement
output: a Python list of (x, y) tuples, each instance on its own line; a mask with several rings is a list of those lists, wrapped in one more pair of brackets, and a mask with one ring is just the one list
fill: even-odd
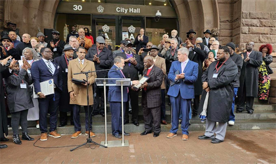
[[(104, 123), (93, 124), (92, 131), (95, 133), (104, 133)], [(143, 132), (145, 130), (144, 123), (141, 123), (140, 126), (135, 126), (133, 124), (125, 124), (124, 129), (126, 132)], [(161, 131), (170, 131), (171, 124), (161, 125)], [(179, 130), (181, 127), (179, 126)], [(276, 129), (276, 120), (268, 119), (268, 120), (246, 120), (246, 121), (235, 121), (235, 125), (227, 126), (227, 130), (255, 130), (255, 129)], [(82, 125), (82, 133), (85, 131), (84, 124)], [(189, 127), (189, 131), (195, 130), (205, 130), (205, 122), (201, 121), (191, 121), (191, 125)], [(21, 130), (19, 130), (22, 133)], [(74, 126), (67, 125), (64, 127), (57, 127), (57, 131), (60, 134), (73, 134)], [(111, 123), (107, 124), (107, 132), (111, 133)], [(9, 128), (9, 134), (12, 134), (12, 128)], [(30, 135), (38, 135), (41, 134), (40, 130), (35, 127), (28, 128), (28, 133)], [(127, 136), (126, 136), (127, 137)]]

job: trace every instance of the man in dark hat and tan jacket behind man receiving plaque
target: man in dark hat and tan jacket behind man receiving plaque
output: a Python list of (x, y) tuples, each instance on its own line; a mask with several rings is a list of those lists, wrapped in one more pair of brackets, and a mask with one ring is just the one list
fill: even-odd
[[(158, 56), (158, 51), (159, 48), (157, 48), (156, 45), (153, 45), (151, 48), (151, 56), (153, 57), (154, 60), (154, 65), (157, 66), (158, 68), (162, 69), (164, 75), (166, 75), (166, 61), (164, 58), (161, 58)], [(145, 68), (146, 69), (146, 68)], [(161, 104), (161, 123), (164, 125), (167, 125), (167, 121), (166, 121), (166, 106), (165, 106), (165, 89), (166, 89), (166, 85), (165, 85), (165, 76), (163, 78), (163, 82), (161, 85), (161, 99), (162, 99), (162, 104)]]

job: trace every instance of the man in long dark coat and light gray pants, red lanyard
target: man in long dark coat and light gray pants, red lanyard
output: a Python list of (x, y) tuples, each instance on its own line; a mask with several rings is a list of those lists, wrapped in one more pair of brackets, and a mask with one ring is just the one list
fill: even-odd
[[(205, 134), (198, 138), (212, 139), (212, 143), (224, 141), (234, 94), (233, 82), (238, 74), (237, 65), (230, 58), (229, 52), (228, 47), (221, 47), (217, 52), (217, 61), (210, 64), (201, 78), (204, 90), (199, 110), (202, 111), (207, 92), (209, 92), (209, 102)], [(217, 128), (216, 122), (218, 122)]]

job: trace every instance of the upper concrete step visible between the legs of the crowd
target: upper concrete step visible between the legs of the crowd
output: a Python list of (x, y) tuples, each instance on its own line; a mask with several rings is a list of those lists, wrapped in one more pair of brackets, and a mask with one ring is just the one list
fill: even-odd
[[(68, 118), (70, 118), (70, 113), (68, 113)], [(129, 121), (131, 123), (132, 115), (129, 115)], [(48, 115), (48, 123), (49, 123), (49, 115)], [(276, 119), (276, 111), (265, 111), (265, 112), (254, 112), (253, 114), (248, 114), (246, 111), (242, 113), (235, 113), (235, 120), (266, 120), (266, 119)], [(139, 122), (144, 122), (143, 113), (139, 113), (138, 117)], [(166, 112), (166, 120), (167, 122), (171, 122), (171, 112)], [(198, 116), (192, 116), (192, 121), (198, 121)], [(80, 113), (80, 122), (85, 123), (85, 113)], [(97, 123), (104, 123), (104, 117), (101, 115), (96, 115), (92, 117), (92, 122), (94, 124)], [(106, 122), (111, 123), (111, 113), (107, 113), (106, 115)], [(60, 121), (58, 119), (58, 125), (60, 124)], [(70, 119), (67, 120), (67, 124), (70, 124)], [(36, 121), (28, 121), (29, 127), (35, 127)]]

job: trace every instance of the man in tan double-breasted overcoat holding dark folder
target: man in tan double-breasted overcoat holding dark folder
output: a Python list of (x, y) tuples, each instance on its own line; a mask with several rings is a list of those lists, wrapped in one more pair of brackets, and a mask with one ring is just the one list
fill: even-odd
[[(92, 116), (90, 114), (90, 122), (88, 126), (88, 108), (89, 113), (92, 113), (93, 105), (93, 89), (91, 85), (95, 82), (97, 75), (95, 72), (88, 74), (88, 82), (85, 84), (75, 84), (72, 82), (72, 78), (83, 80), (86, 79), (85, 74), (74, 73), (95, 71), (94, 63), (85, 59), (85, 49), (84, 47), (79, 47), (77, 49), (78, 58), (71, 60), (68, 65), (68, 92), (70, 93), (70, 104), (73, 104), (73, 119), (75, 126), (75, 133), (72, 134), (71, 138), (76, 138), (81, 135), (81, 124), (80, 124), (80, 106), (83, 105), (85, 110), (85, 134), (88, 135), (88, 128), (92, 129)], [(89, 85), (88, 95), (89, 95), (89, 107), (87, 106), (87, 91), (86, 86)], [(90, 136), (96, 136), (93, 132), (90, 131)]]

